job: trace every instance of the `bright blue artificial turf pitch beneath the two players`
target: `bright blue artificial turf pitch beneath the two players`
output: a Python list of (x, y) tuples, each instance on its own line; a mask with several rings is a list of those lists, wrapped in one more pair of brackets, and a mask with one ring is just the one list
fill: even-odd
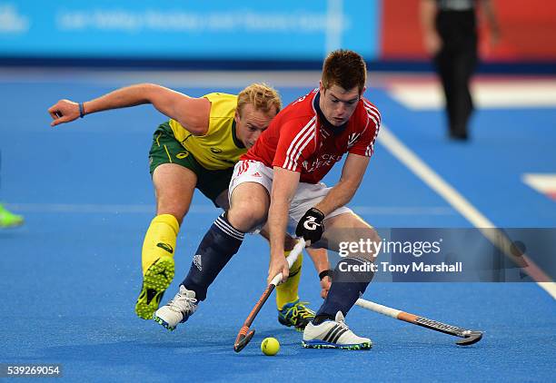
[[(553, 380), (556, 306), (534, 283), (368, 288), (366, 299), (484, 330), (484, 339), (469, 348), (354, 308), (348, 324), (372, 338), (372, 350), (303, 349), (300, 333), (278, 324), (272, 298), (253, 325), (251, 344), (235, 354), (233, 340), (264, 289), (268, 266), (267, 246), (255, 237), (245, 241), (185, 326), (167, 332), (137, 319), (140, 252), (154, 213), (146, 154), (164, 118), (142, 106), (52, 129), (46, 113), (59, 98), (90, 99), (114, 86), (2, 83), (0, 196), (25, 214), (26, 223), (0, 231), (0, 363), (61, 363), (65, 378), (74, 381)], [(214, 89), (182, 90), (201, 95)], [(306, 91), (280, 90), (286, 103)], [(367, 96), (392, 132), (496, 225), (556, 227), (556, 201), (520, 179), (523, 172), (554, 172), (556, 110), (482, 110), (472, 144), (458, 145), (445, 141), (439, 111), (412, 112), (383, 89)], [(327, 180), (338, 175), (336, 169)], [(362, 217), (377, 227), (470, 226), (381, 144), (352, 206), (365, 208)], [(377, 209), (385, 207), (392, 209)], [(195, 196), (164, 301), (174, 295), (217, 214)], [(306, 261), (301, 296), (313, 308), (320, 302), (317, 280)], [(280, 340), (277, 356), (261, 353), (265, 337)]]

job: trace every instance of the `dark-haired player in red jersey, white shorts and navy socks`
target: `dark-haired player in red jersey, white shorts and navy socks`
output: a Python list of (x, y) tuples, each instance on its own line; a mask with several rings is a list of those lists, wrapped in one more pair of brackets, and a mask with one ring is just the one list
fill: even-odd
[[(362, 97), (365, 81), (361, 55), (338, 50), (326, 57), (319, 88), (278, 113), (235, 165), (230, 210), (214, 221), (195, 255), (203, 268), (192, 267), (174, 300), (157, 311), (157, 321), (175, 327), (193, 314), (197, 300), (204, 300), (218, 272), (239, 250), (244, 233), (267, 221), (269, 282), (280, 272), (288, 277), (286, 231), (303, 237), (308, 246), (333, 251), (341, 242), (380, 241), (376, 231), (345, 206), (362, 182), (381, 123), (378, 109)], [(339, 182), (326, 187), (321, 180), (345, 153)], [(371, 339), (355, 335), (344, 317), (372, 280), (377, 255), (373, 248), (359, 249), (338, 262), (328, 296), (303, 331), (303, 347), (371, 348)]]

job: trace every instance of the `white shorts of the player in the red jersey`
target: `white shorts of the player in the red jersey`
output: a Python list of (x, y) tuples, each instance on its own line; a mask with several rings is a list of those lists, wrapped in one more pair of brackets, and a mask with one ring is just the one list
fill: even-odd
[[(263, 162), (258, 161), (240, 161), (233, 168), (233, 176), (228, 188), (228, 199), (232, 201), (233, 189), (243, 182), (256, 182), (264, 186), (269, 195), (273, 189), (273, 169), (265, 166)], [(323, 201), (324, 197), (332, 188), (326, 187), (323, 182), (306, 183), (299, 182), (297, 191), (293, 196), (290, 204), (289, 220), (287, 231), (295, 236), (295, 228), (297, 222), (301, 220), (303, 214), (313, 208), (317, 203)], [(340, 215), (346, 212), (352, 212), (350, 208), (345, 206), (336, 209), (328, 214), (325, 219)]]

